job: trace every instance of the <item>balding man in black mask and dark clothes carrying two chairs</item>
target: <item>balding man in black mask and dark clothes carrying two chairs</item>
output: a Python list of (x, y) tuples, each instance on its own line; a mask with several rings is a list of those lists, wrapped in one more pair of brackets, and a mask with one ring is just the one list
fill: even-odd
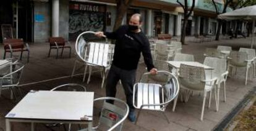
[(113, 63), (106, 80), (106, 96), (116, 96), (116, 84), (121, 80), (126, 93), (126, 102), (130, 109), (128, 118), (132, 122), (136, 119), (135, 108), (132, 104), (133, 86), (141, 52), (148, 71), (151, 74), (157, 73), (151, 57), (150, 44), (145, 34), (142, 33), (141, 26), (140, 14), (134, 14), (130, 17), (129, 25), (122, 25), (112, 33), (98, 32), (95, 34), (98, 37), (106, 36), (109, 39), (116, 39)]

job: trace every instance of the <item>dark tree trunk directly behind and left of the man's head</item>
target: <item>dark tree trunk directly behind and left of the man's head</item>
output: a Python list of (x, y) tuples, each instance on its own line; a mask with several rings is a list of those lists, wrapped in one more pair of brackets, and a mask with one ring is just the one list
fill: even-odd
[(122, 19), (124, 18), (124, 15), (126, 15), (126, 12), (133, 1), (134, 0), (116, 0), (117, 14), (113, 30), (117, 30), (117, 28), (122, 25)]

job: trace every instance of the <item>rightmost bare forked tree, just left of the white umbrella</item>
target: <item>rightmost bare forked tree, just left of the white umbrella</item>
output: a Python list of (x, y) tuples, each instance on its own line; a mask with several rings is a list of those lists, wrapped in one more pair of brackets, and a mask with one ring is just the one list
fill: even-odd
[[(213, 2), (213, 5), (215, 7), (216, 15), (220, 15), (221, 11), (220, 11), (220, 9), (218, 9), (215, 0), (211, 0), (211, 1)], [(226, 9), (231, 2), (233, 2), (233, 0), (224, 1), (224, 8), (222, 10), (222, 13), (226, 13)], [(219, 41), (219, 39), (220, 39), (220, 30), (221, 30), (222, 23), (223, 23), (223, 20), (218, 19), (218, 29), (217, 29), (217, 33), (216, 33), (216, 37), (215, 37), (216, 41)]]

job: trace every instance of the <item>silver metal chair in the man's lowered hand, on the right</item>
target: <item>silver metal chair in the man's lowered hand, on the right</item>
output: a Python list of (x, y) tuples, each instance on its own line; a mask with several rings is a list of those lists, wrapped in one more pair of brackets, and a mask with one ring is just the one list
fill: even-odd
[[(158, 71), (152, 75), (144, 73), (139, 83), (134, 85), (133, 104), (139, 110), (135, 124), (142, 109), (161, 111), (164, 114), (166, 107), (179, 92), (179, 82), (174, 74), (168, 71)], [(169, 123), (168, 117), (164, 114)]]

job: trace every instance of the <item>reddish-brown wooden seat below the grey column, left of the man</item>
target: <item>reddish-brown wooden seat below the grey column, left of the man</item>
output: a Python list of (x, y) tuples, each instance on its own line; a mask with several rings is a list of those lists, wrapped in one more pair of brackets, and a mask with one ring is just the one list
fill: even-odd
[[(69, 43), (69, 41), (67, 41)], [(58, 54), (59, 54), (59, 49), (62, 49), (61, 50), (61, 56), (63, 54), (63, 50), (65, 48), (68, 48), (69, 49), (69, 58), (71, 57), (71, 46), (70, 46), (70, 43), (69, 43), (69, 46), (66, 46), (66, 41), (64, 38), (62, 37), (51, 37), (49, 38), (49, 53), (48, 53), (48, 57), (50, 56), (51, 54), (51, 49), (56, 49), (57, 50), (57, 56), (56, 58), (58, 58)]]

